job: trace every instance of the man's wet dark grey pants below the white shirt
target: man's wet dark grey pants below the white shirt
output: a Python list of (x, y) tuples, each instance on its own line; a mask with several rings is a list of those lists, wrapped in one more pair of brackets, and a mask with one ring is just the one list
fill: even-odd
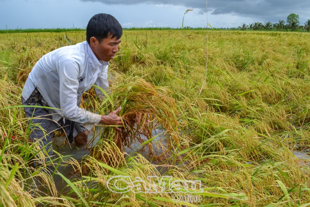
[[(34, 89), (27, 100), (22, 97), (21, 101), (23, 105), (28, 106), (47, 106), (37, 88)], [(32, 130), (29, 138), (33, 141), (41, 140), (42, 149), (45, 146), (49, 157), (53, 154), (52, 138), (55, 131), (65, 132), (71, 143), (75, 136), (87, 130), (83, 124), (68, 119), (60, 119), (58, 122), (53, 120), (49, 111), (45, 108), (24, 107), (24, 111), (26, 116), (31, 118), (28, 123), (30, 130)]]

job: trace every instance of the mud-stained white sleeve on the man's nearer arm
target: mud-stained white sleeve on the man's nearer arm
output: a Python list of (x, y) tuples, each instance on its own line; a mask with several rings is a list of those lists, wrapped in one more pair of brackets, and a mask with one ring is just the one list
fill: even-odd
[(58, 58), (60, 109), (65, 119), (78, 123), (97, 124), (101, 115), (78, 107), (78, 76), (81, 60), (71, 55)]

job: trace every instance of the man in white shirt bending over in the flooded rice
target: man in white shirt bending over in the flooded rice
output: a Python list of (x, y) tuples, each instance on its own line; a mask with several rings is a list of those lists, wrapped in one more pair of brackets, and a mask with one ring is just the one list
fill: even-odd
[[(79, 107), (82, 93), (93, 84), (108, 91), (108, 61), (117, 53), (121, 37), (122, 26), (113, 16), (96, 14), (88, 22), (87, 41), (47, 53), (29, 73), (22, 104), (53, 108), (24, 107), (27, 117), (33, 117), (30, 139), (42, 140), (47, 157), (53, 153), (51, 141), (55, 130), (64, 130), (69, 142), (74, 138), (75, 144), (82, 145), (87, 143), (88, 130), (94, 124), (122, 125), (117, 115), (121, 107), (108, 115)], [(96, 94), (102, 96), (97, 89)]]

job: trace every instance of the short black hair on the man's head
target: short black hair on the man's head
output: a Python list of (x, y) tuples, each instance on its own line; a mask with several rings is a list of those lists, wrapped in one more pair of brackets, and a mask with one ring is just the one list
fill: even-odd
[(86, 28), (86, 40), (90, 44), (91, 37), (95, 37), (101, 42), (102, 39), (112, 35), (111, 38), (121, 38), (123, 34), (122, 26), (109, 14), (96, 14), (89, 20)]

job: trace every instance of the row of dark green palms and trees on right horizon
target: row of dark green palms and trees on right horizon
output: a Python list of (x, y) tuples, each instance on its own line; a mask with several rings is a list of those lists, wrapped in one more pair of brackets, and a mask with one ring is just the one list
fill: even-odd
[(278, 30), (281, 31), (282, 29), (288, 29), (290, 31), (299, 30), (306, 30), (307, 32), (310, 30), (310, 19), (306, 20), (303, 25), (299, 22), (299, 15), (291, 13), (286, 18), (286, 24), (284, 20), (279, 20), (277, 23), (272, 23), (270, 21), (262, 23), (262, 22), (254, 22), (251, 24), (242, 23), (241, 26), (238, 27), (241, 30)]

